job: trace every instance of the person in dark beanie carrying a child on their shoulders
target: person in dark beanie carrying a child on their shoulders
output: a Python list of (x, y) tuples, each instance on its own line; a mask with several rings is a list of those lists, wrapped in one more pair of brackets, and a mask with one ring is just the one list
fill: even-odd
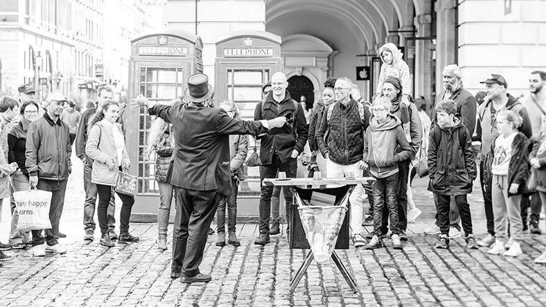
[[(407, 182), (410, 178), (410, 163), (415, 159), (415, 154), (419, 147), (421, 146), (421, 140), (423, 139), (423, 125), (421, 125), (421, 119), (419, 118), (419, 110), (414, 103), (410, 103), (407, 106), (407, 113), (409, 113), (409, 118), (404, 119), (403, 107), (401, 105), (402, 101), (402, 85), (400, 80), (395, 77), (388, 77), (385, 79), (383, 84), (383, 96), (386, 96), (391, 100), (391, 114), (396, 115), (402, 125), (408, 121), (410, 123), (410, 147), (412, 148), (412, 154), (409, 159), (405, 161), (398, 162), (398, 228), (400, 229), (400, 240), (407, 240), (406, 229), (407, 229)], [(382, 234), (387, 234), (388, 227), (388, 217), (389, 211), (387, 208), (383, 209), (383, 225), (382, 225)]]

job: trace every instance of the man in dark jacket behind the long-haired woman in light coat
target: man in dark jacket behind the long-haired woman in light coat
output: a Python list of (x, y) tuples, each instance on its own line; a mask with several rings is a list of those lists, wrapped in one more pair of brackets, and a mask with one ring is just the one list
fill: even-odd
[[(97, 200), (97, 186), (94, 183), (91, 183), (91, 169), (93, 161), (89, 161), (89, 158), (85, 154), (85, 144), (87, 143), (87, 136), (89, 134), (88, 127), (89, 119), (95, 115), (96, 112), (101, 112), (103, 107), (103, 102), (105, 100), (114, 99), (114, 91), (110, 87), (100, 87), (97, 91), (98, 98), (98, 107), (85, 110), (83, 112), (80, 124), (78, 125), (78, 130), (76, 132), (76, 157), (80, 158), (83, 162), (83, 188), (85, 191), (85, 202), (83, 204), (83, 225), (85, 230), (85, 236), (83, 237), (86, 241), (92, 241), (95, 233), (96, 223), (94, 220), (96, 200)], [(121, 116), (118, 117), (118, 123), (121, 123), (123, 127), (123, 120)], [(112, 193), (112, 198), (108, 204), (107, 216), (108, 216), (108, 229), (110, 239), (116, 240), (118, 236), (114, 232), (114, 223), (116, 219), (114, 218), (114, 212), (116, 211), (115, 207), (115, 195)]]

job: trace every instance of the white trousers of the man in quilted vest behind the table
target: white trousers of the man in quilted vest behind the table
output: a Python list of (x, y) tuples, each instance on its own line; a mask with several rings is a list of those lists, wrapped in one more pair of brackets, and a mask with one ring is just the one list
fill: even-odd
[[(353, 172), (355, 178), (362, 178), (362, 170), (358, 167), (358, 163), (351, 165), (340, 165), (334, 162), (326, 161), (329, 177), (344, 177), (347, 172)], [(362, 198), (364, 197), (364, 188), (362, 184), (357, 184), (353, 193), (349, 195), (349, 202), (351, 202), (351, 231), (353, 236), (355, 234), (362, 234), (364, 230), (362, 228)]]

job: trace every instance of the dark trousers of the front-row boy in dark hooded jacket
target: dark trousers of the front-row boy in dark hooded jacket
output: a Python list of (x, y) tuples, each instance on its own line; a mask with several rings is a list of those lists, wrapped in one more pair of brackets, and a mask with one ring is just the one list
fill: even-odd
[(464, 235), (468, 236), (472, 234), (472, 216), (470, 216), (470, 205), (466, 200), (465, 195), (440, 195), (434, 194), (437, 198), (437, 216), (438, 216), (438, 226), (440, 227), (441, 234), (446, 234), (449, 236), (449, 227), (450, 227), (450, 211), (451, 202), (455, 200), (457, 209), (461, 216), (463, 222)]

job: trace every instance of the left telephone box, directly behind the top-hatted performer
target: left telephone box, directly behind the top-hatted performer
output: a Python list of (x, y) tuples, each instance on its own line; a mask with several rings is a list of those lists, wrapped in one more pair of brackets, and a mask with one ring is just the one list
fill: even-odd
[[(181, 97), (188, 76), (203, 71), (202, 49), (199, 36), (182, 30), (170, 29), (135, 38), (131, 41), (128, 97), (143, 94), (155, 101)], [(125, 112), (130, 173), (136, 175), (138, 182), (131, 220), (157, 222), (159, 186), (155, 181), (155, 153), (149, 157), (143, 155), (154, 116), (148, 115), (143, 107), (127, 107)]]

